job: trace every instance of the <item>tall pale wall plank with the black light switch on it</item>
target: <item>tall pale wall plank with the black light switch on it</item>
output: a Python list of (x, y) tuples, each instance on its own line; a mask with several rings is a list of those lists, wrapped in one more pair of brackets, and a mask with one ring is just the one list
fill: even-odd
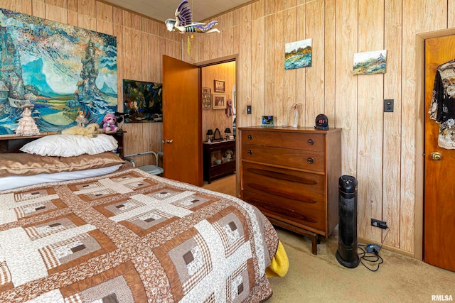
[(400, 157), (397, 155), (401, 154), (402, 1), (385, 0), (384, 7), (384, 48), (387, 50), (384, 99), (394, 100), (394, 111), (384, 113), (382, 220), (390, 228), (385, 245), (400, 248)]

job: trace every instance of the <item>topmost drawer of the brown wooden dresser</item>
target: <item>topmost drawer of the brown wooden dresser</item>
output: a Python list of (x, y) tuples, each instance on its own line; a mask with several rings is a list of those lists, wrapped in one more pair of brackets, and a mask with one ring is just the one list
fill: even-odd
[(323, 152), (325, 147), (324, 135), (321, 133), (286, 133), (266, 131), (242, 131), (242, 143), (266, 145), (296, 150), (314, 150)]

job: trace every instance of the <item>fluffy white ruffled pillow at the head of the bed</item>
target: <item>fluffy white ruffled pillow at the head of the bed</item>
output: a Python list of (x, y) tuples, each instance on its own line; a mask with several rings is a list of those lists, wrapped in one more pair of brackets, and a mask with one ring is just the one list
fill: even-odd
[(36, 155), (73, 157), (75, 155), (96, 155), (118, 148), (114, 137), (99, 134), (96, 137), (81, 135), (50, 135), (23, 145), (21, 151)]

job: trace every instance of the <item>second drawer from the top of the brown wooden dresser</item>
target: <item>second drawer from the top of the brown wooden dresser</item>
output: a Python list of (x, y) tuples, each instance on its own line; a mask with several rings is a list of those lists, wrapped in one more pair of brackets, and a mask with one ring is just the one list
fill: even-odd
[(242, 160), (324, 172), (324, 153), (262, 145), (242, 145)]

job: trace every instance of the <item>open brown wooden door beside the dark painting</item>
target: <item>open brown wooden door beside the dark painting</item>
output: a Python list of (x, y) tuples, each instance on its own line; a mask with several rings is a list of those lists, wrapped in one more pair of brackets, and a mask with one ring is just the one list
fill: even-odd
[(164, 177), (202, 186), (199, 68), (163, 56)]

